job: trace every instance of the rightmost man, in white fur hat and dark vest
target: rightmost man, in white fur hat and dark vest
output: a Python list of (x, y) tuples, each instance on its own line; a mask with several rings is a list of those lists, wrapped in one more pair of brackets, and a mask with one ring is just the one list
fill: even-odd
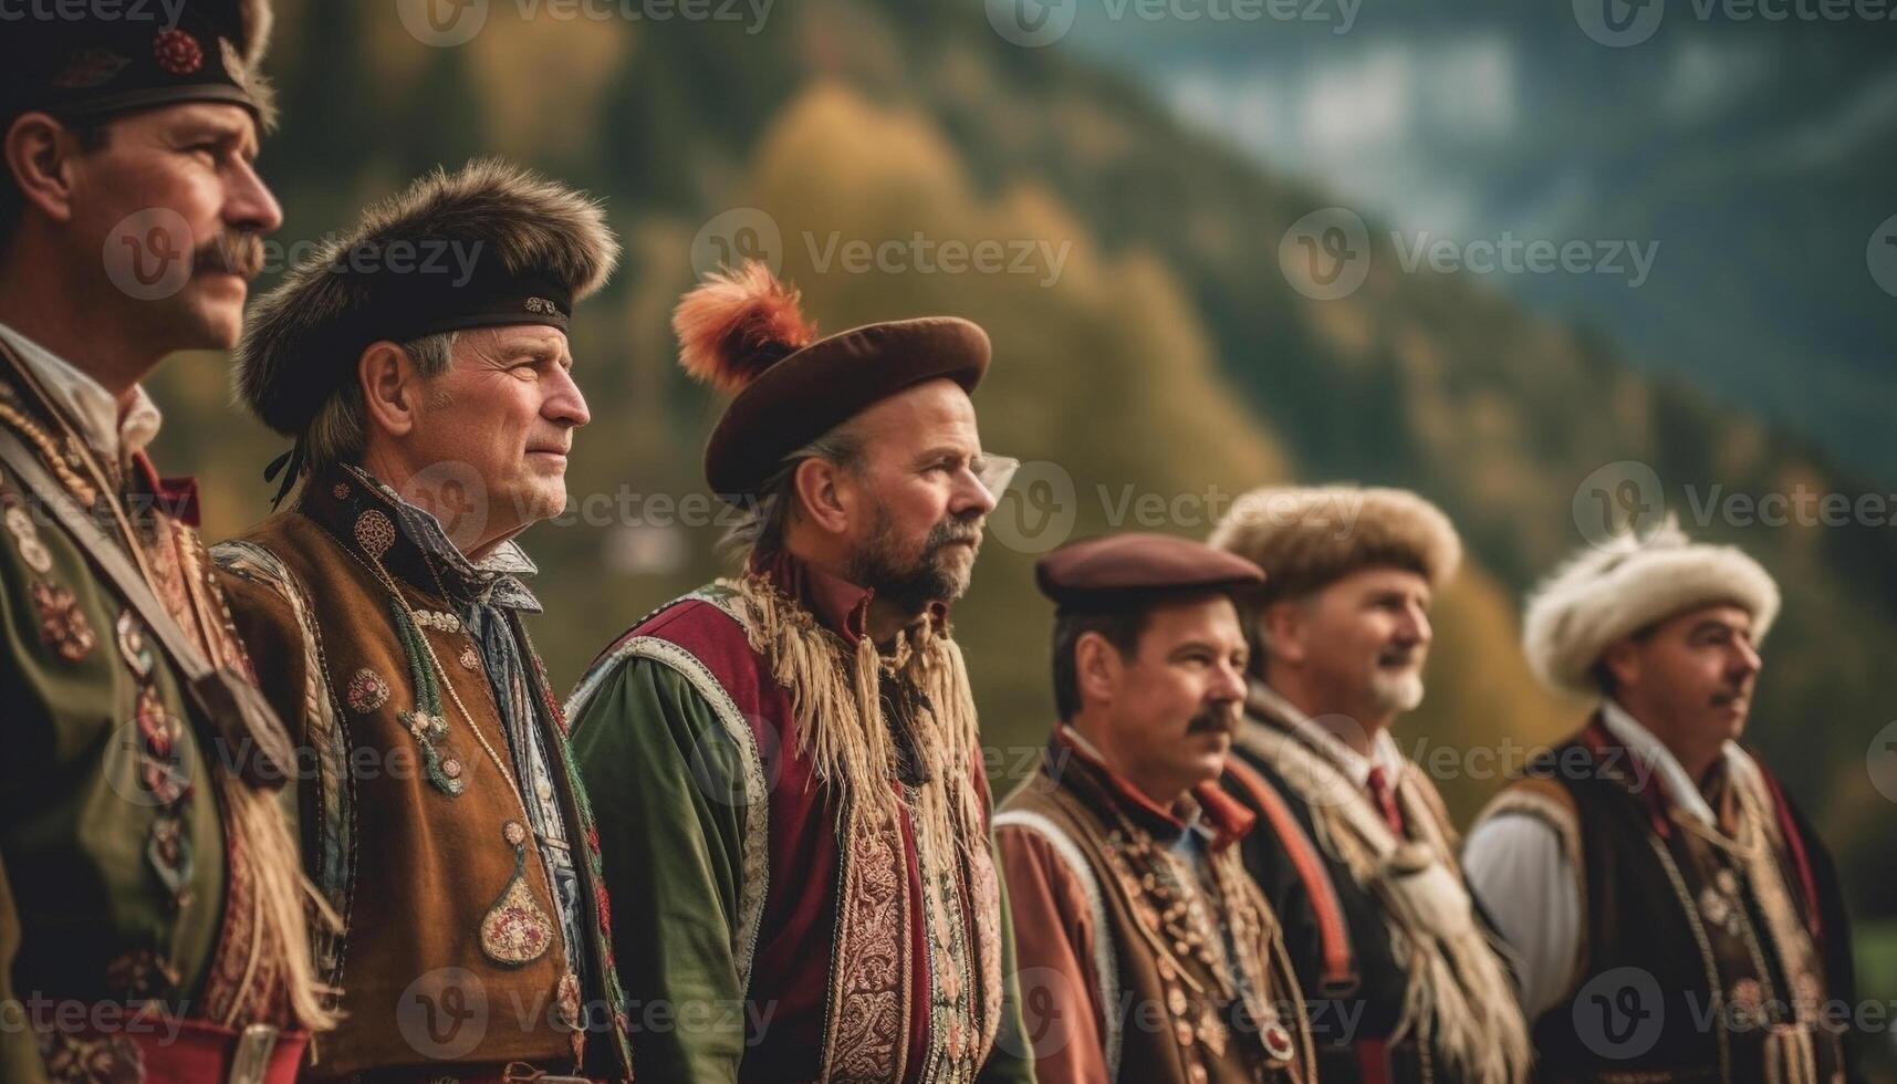
[(1779, 592), (1675, 524), (1527, 602), (1552, 689), (1595, 701), (1468, 837), (1548, 1080), (1844, 1080), (1851, 947), (1823, 841), (1738, 738)]

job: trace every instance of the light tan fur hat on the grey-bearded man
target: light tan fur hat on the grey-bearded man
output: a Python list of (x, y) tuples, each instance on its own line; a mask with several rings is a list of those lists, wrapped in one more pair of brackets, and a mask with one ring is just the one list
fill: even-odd
[(1260, 606), (1301, 598), (1362, 568), (1406, 568), (1440, 589), (1463, 564), (1463, 539), (1449, 516), (1408, 490), (1252, 490), (1208, 541), (1265, 570)]

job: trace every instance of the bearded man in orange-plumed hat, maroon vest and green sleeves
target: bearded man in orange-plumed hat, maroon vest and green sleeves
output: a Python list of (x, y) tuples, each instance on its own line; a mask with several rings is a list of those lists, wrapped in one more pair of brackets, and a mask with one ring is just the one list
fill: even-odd
[(744, 575), (643, 619), (569, 701), (641, 1073), (1026, 1080), (948, 604), (1011, 471), (950, 317), (823, 340), (761, 264), (673, 321), (736, 391), (706, 448)]

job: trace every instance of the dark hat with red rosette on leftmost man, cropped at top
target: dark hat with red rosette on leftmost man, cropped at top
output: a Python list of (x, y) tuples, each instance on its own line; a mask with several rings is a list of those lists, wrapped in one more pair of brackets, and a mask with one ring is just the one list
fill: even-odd
[(275, 13), (269, 0), (76, 6), (0, 34), (0, 120), (46, 110), (66, 121), (161, 104), (224, 101), (266, 129), (277, 104), (262, 74)]

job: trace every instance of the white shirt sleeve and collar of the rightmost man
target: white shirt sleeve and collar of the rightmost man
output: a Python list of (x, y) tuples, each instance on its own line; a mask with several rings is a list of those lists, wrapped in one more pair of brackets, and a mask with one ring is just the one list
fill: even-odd
[[(1713, 807), (1681, 767), (1673, 750), (1614, 701), (1601, 702), (1601, 723), (1628, 754), (1660, 776), (1667, 799), (1686, 816), (1715, 826)], [(1726, 742), (1728, 767), (1747, 754)], [(1499, 813), (1468, 833), (1463, 875), (1502, 940), (1516, 949), (1516, 980), (1529, 1021), (1559, 1004), (1580, 951), (1580, 877), (1546, 820)]]

